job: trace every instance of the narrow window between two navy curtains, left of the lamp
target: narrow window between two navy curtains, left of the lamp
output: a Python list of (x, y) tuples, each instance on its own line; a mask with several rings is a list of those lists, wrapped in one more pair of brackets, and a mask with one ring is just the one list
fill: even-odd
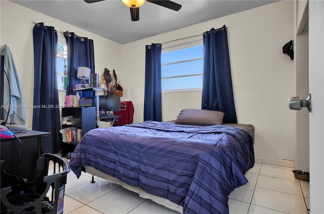
[[(58, 90), (66, 90), (67, 51), (65, 38), (58, 37), (56, 53), (56, 74)], [(64, 75), (65, 73), (65, 75)]]

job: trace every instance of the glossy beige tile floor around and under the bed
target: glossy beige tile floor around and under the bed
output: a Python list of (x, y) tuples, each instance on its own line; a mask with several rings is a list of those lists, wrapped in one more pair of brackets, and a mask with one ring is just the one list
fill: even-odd
[[(296, 180), (292, 168), (255, 164), (247, 172), (247, 185), (229, 195), (230, 213), (308, 213), (309, 183)], [(65, 186), (67, 213), (178, 213), (149, 199), (83, 173), (77, 179), (71, 171)]]

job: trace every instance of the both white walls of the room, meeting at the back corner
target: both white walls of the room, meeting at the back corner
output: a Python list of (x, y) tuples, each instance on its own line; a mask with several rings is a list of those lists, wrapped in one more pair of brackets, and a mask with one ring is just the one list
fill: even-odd
[[(12, 50), (22, 80), (26, 104), (33, 97), (32, 22), (44, 22), (58, 31), (73, 31), (94, 39), (96, 73), (115, 69), (125, 92), (132, 100), (134, 122), (143, 121), (145, 45), (201, 34), (227, 26), (234, 101), (239, 123), (256, 128), (255, 155), (294, 159), (296, 113), (288, 99), (296, 94), (294, 66), (282, 54), (282, 46), (293, 39), (293, 2), (274, 4), (211, 20), (128, 44), (118, 44), (17, 4), (1, 2), (1, 39)], [(10, 21), (7, 21), (10, 20)], [(295, 79), (296, 81), (296, 79)], [(164, 93), (163, 120), (175, 120), (181, 109), (200, 109), (201, 91)], [(27, 126), (32, 110), (27, 110)]]

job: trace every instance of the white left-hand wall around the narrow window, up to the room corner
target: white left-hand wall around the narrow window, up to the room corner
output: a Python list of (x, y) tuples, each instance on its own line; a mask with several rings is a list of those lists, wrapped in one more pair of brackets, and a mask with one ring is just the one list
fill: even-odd
[[(121, 44), (9, 1), (0, 1), (0, 7), (0, 45), (8, 45), (12, 52), (26, 105), (33, 104), (33, 22), (44, 22), (44, 25), (53, 26), (58, 32), (70, 31), (78, 36), (93, 39), (95, 72), (99, 76), (101, 76), (105, 67), (117, 71), (121, 69)], [(62, 37), (63, 34), (58, 33), (58, 36)], [(60, 104), (64, 104), (65, 91), (60, 91), (59, 96)], [(26, 109), (26, 126), (32, 126), (32, 109)]]

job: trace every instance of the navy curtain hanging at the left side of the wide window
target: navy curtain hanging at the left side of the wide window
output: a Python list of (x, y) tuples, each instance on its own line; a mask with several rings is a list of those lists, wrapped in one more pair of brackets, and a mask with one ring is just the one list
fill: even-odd
[(146, 45), (144, 121), (162, 121), (161, 44)]

